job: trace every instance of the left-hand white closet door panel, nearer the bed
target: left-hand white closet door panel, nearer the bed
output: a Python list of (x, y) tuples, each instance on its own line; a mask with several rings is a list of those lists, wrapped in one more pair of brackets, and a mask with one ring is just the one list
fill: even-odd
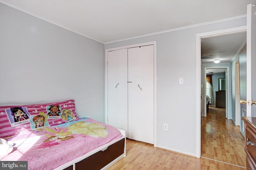
[(108, 52), (108, 124), (128, 132), (127, 49)]

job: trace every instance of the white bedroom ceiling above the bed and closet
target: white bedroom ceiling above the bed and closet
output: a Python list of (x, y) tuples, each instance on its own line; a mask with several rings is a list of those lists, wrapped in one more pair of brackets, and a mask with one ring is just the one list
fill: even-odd
[(0, 0), (101, 43), (240, 18), (256, 0)]

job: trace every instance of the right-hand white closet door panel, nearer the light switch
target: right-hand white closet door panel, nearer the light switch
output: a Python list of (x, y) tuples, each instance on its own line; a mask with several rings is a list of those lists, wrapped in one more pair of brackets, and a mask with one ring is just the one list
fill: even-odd
[(128, 138), (154, 143), (154, 45), (128, 49)]

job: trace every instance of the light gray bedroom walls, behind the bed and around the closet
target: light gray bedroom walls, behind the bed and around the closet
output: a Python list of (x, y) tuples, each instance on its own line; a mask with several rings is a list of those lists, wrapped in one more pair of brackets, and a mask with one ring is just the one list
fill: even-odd
[(157, 145), (195, 155), (196, 33), (246, 25), (246, 18), (105, 46), (2, 4), (0, 25), (0, 105), (74, 98), (79, 116), (102, 122), (104, 48), (157, 41)]

